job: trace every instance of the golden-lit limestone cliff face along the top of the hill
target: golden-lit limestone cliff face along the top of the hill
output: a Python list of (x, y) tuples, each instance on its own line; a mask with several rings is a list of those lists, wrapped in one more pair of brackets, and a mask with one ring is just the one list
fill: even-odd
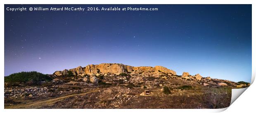
[(132, 73), (132, 74), (142, 74), (142, 73), (154, 73), (163, 72), (166, 74), (176, 75), (176, 72), (170, 69), (167, 69), (162, 66), (156, 67), (133, 67), (123, 64), (116, 63), (103, 63), (99, 65), (87, 65), (86, 67), (77, 67), (64, 71), (55, 71), (53, 73), (56, 76), (67, 75), (68, 71), (71, 71), (76, 76), (95, 75), (95, 74), (121, 74), (121, 73)]

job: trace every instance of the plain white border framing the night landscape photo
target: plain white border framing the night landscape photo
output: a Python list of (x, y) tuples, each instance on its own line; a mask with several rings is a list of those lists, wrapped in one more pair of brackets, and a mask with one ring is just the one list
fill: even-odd
[[(146, 2), (147, 1), (147, 2)], [(92, 1), (85, 1), (85, 0), (44, 0), (44, 1), (36, 1), (36, 0), (6, 0), (3, 1), (1, 0), (1, 15), (4, 15), (4, 4), (252, 4), (252, 20), (255, 20), (255, 12), (256, 12), (256, 7), (255, 7), (255, 1), (256, 0), (127, 0), (127, 1), (122, 1), (122, 0), (92, 0)], [(0, 38), (0, 52), (2, 55), (0, 56), (1, 58), (1, 70), (0, 72), (2, 75), (4, 75), (4, 16), (1, 16), (1, 38)], [(252, 21), (252, 78), (251, 78), (251, 83), (254, 82), (255, 74), (256, 74), (256, 35), (255, 35), (255, 22)], [(3, 84), (4, 80), (1, 79), (1, 83)], [(250, 86), (251, 87), (251, 86)], [(255, 89), (253, 89), (255, 90)], [(2, 85), (1, 87), (1, 92), (2, 94), (4, 93), (4, 86)], [(252, 91), (252, 90), (251, 90)], [(246, 96), (246, 95), (242, 95)], [(242, 96), (240, 96), (242, 98)], [(249, 99), (251, 97), (247, 97)], [(1, 101), (4, 101), (4, 96), (1, 97)], [(250, 102), (250, 101), (248, 101)], [(235, 105), (236, 102), (234, 102)], [(255, 101), (252, 101), (251, 103), (255, 104)], [(245, 104), (245, 103), (243, 103)], [(248, 103), (246, 103), (248, 104)], [(234, 107), (232, 107), (234, 108)], [(240, 108), (240, 104), (238, 103), (238, 106), (234, 108), (233, 112), (236, 111), (236, 109)], [(153, 112), (190, 112), (190, 113), (198, 113), (198, 112), (221, 112), (224, 111), (226, 108), (223, 109), (115, 109), (115, 110), (109, 110), (109, 109), (78, 109), (78, 110), (73, 110), (73, 109), (24, 109), (24, 110), (18, 110), (18, 109), (4, 109), (4, 104), (2, 105), (3, 112), (19, 112), (19, 113), (28, 113), (28, 112), (63, 112), (63, 113), (68, 113), (72, 111), (76, 112), (104, 112), (104, 113), (129, 113), (129, 112), (146, 112), (146, 113), (153, 113)], [(248, 108), (247, 108), (248, 109)], [(253, 108), (252, 108), (253, 109)], [(229, 110), (232, 112), (232, 110)]]

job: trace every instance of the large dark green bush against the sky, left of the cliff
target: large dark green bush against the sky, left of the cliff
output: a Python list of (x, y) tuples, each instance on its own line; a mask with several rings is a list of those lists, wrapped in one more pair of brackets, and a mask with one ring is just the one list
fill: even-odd
[(52, 78), (46, 74), (39, 73), (37, 71), (19, 72), (5, 76), (5, 82), (7, 83), (26, 83), (26, 82), (40, 82), (40, 81), (52, 81)]

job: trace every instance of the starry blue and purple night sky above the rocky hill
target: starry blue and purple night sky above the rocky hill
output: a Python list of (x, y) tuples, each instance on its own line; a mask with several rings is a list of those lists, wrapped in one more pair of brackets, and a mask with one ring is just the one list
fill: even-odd
[[(158, 11), (6, 10), (39, 6)], [(122, 63), (251, 82), (251, 5), (5, 5), (4, 18), (5, 76)]]

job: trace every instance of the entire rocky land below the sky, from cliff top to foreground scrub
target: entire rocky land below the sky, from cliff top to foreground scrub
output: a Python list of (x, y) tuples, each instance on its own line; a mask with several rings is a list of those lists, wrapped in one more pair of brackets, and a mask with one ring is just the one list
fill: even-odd
[(162, 66), (111, 63), (13, 75), (5, 77), (5, 108), (225, 108), (232, 88), (250, 85), (188, 72), (179, 76)]

